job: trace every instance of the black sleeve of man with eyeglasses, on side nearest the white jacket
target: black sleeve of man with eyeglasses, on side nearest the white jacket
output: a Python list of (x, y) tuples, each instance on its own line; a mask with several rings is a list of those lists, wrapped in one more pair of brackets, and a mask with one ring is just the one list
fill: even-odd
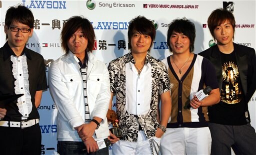
[(46, 90), (47, 89), (47, 82), (46, 82), (46, 68), (44, 64), (44, 59), (41, 57), (39, 59), (39, 67), (38, 67), (38, 73), (39, 73), (39, 79), (37, 83), (36, 90)]

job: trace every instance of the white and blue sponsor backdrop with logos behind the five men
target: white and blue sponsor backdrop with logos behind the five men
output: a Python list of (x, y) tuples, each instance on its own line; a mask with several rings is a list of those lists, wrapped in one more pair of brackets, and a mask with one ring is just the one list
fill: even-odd
[[(234, 42), (255, 49), (255, 0), (0, 0), (0, 46), (6, 41), (3, 31), (5, 12), (9, 6), (18, 3), (30, 8), (34, 14), (34, 32), (26, 47), (44, 57), (46, 73), (51, 62), (63, 54), (59, 34), (66, 19), (73, 15), (83, 15), (91, 21), (96, 34), (93, 54), (106, 65), (129, 51), (128, 24), (137, 15), (154, 22), (156, 38), (150, 54), (157, 59), (170, 54), (166, 45), (166, 32), (170, 21), (177, 17), (186, 17), (195, 24), (194, 53), (214, 45), (207, 27), (207, 17), (212, 10), (220, 7), (232, 11), (235, 16)], [(255, 102), (254, 94), (249, 103), (251, 125), (254, 128)], [(56, 106), (49, 91), (43, 92), (38, 111), (42, 134), (41, 155), (56, 155)], [(109, 151), (111, 154), (111, 146)]]

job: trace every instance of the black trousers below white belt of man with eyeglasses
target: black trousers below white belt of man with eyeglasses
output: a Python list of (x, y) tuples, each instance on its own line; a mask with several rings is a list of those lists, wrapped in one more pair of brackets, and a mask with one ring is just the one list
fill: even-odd
[(0, 127), (0, 155), (41, 155), (39, 124), (24, 129)]

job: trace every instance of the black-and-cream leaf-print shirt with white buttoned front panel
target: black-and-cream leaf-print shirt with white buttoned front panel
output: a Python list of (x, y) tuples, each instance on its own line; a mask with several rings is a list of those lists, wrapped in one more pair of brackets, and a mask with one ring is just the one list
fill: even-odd
[(158, 126), (159, 95), (170, 91), (165, 65), (146, 55), (145, 65), (138, 75), (131, 53), (112, 60), (108, 65), (110, 90), (116, 94), (116, 111), (123, 140), (137, 142), (140, 125), (149, 139)]

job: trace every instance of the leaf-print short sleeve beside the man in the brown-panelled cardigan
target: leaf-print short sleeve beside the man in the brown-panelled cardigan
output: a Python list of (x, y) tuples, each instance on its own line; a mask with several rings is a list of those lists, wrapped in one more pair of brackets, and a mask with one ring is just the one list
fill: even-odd
[(161, 68), (159, 76), (159, 95), (161, 95), (162, 93), (170, 91), (170, 80), (166, 66), (162, 62), (160, 62), (159, 65)]

